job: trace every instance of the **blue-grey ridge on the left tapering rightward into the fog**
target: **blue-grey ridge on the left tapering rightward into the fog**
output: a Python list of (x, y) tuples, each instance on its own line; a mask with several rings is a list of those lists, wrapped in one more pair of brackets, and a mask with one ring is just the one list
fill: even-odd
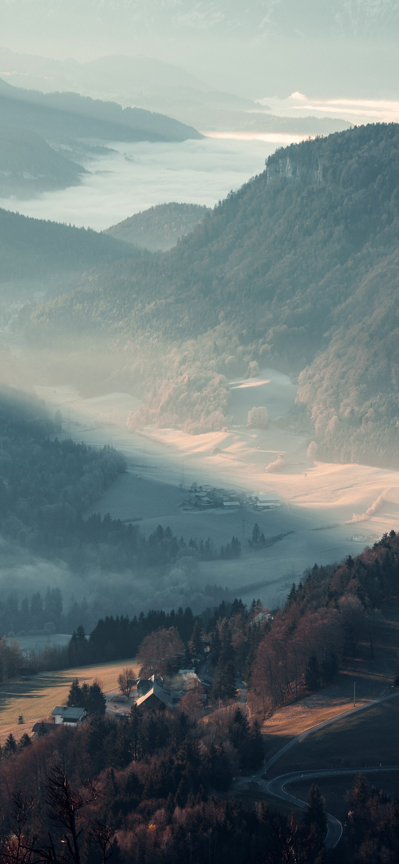
[(173, 118), (141, 108), (123, 109), (73, 92), (23, 90), (1, 78), (0, 116), (0, 194), (4, 197), (30, 197), (79, 183), (85, 168), (72, 161), (68, 164), (66, 157), (71, 149), (88, 149), (92, 139), (177, 143), (202, 137)]

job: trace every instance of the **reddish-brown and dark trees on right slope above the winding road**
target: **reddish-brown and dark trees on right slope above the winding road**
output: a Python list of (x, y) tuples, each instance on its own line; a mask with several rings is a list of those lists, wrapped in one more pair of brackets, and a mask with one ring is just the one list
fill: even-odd
[(250, 699), (268, 711), (320, 689), (332, 680), (343, 658), (369, 644), (381, 624), (378, 604), (397, 594), (399, 537), (386, 533), (339, 565), (307, 570), (293, 584), (285, 606), (273, 614), (252, 666)]

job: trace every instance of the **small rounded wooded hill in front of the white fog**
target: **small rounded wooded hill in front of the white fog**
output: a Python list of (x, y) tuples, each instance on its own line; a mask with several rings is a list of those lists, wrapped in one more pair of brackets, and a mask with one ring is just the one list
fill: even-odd
[(150, 252), (167, 251), (182, 237), (191, 234), (209, 210), (205, 205), (178, 204), (176, 201), (157, 204), (107, 228), (104, 234), (142, 246)]

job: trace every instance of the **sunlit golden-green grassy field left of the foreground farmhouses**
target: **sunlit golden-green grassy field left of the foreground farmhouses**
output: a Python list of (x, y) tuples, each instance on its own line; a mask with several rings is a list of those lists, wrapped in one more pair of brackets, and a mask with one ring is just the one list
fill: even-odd
[[(48, 719), (55, 705), (65, 705), (73, 678), (88, 684), (98, 678), (104, 693), (107, 693), (117, 688), (117, 677), (125, 666), (133, 666), (138, 674), (138, 665), (133, 658), (80, 669), (41, 672), (25, 680), (0, 684), (0, 742), (3, 744), (10, 732), (16, 738), (24, 732), (29, 734), (36, 721)], [(23, 725), (18, 724), (19, 715), (23, 717)]]

